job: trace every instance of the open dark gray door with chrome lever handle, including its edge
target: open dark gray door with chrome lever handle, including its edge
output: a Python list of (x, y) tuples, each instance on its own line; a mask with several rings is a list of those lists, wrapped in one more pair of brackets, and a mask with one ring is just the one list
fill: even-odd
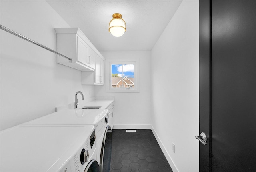
[(255, 0), (200, 0), (200, 132), (200, 171), (256, 171)]

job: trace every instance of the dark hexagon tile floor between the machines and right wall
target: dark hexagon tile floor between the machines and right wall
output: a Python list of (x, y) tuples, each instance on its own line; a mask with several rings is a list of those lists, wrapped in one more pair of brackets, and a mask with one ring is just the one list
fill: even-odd
[(112, 130), (110, 172), (172, 172), (151, 130)]

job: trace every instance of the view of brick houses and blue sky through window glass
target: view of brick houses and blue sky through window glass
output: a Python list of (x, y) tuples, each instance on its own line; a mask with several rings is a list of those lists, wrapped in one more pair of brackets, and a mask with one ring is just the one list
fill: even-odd
[(111, 65), (112, 88), (134, 88), (134, 64)]

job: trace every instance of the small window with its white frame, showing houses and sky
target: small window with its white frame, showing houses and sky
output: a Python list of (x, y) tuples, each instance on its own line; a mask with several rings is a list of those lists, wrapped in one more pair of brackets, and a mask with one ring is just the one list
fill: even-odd
[[(116, 59), (114, 59), (116, 60)], [(138, 60), (108, 62), (109, 83), (107, 92), (139, 92)]]

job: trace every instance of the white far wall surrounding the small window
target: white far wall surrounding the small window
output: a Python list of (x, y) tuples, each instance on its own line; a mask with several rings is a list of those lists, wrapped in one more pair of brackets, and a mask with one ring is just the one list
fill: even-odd
[[(139, 93), (107, 93), (106, 85), (95, 86), (95, 96), (115, 97), (114, 128), (142, 129), (151, 128), (151, 79), (150, 79), (150, 51), (142, 52), (101, 52), (109, 58), (139, 58), (140, 92)], [(105, 63), (105, 83), (109, 79), (109, 71)]]

